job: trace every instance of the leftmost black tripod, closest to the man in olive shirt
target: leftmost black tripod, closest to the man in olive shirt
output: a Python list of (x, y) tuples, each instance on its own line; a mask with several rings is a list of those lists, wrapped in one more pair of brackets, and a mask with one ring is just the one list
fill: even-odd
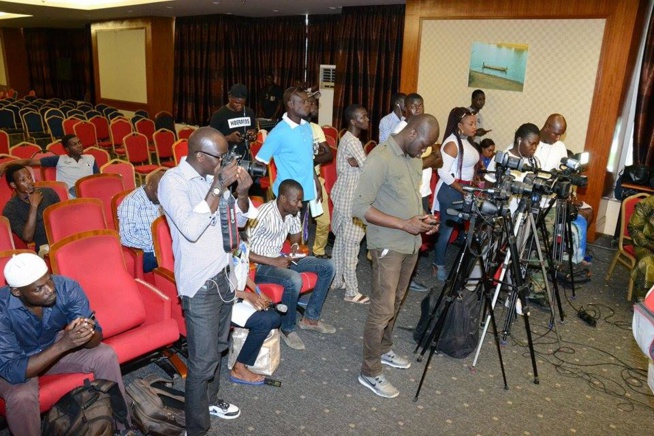
[[(443, 291), (438, 298), (433, 310), (429, 315), (429, 320), (427, 323), (427, 328), (424, 330), (422, 336), (418, 340), (418, 345), (414, 350), (414, 353), (418, 352), (418, 349), (422, 347), (422, 352), (417, 358), (418, 362), (422, 362), (422, 359), (429, 349), (429, 356), (427, 357), (427, 362), (425, 364), (425, 369), (423, 370), (422, 377), (420, 378), (420, 383), (418, 384), (418, 390), (414, 397), (414, 401), (418, 401), (418, 396), (422, 389), (422, 385), (425, 381), (427, 375), (427, 369), (431, 359), (438, 350), (439, 342), (441, 339), (441, 334), (443, 333), (443, 326), (447, 319), (448, 313), (452, 307), (452, 304), (456, 299), (462, 298), (463, 292), (470, 292), (469, 286), (472, 286), (474, 292), (477, 293), (478, 297), (481, 297), (484, 300), (486, 305), (486, 310), (490, 313), (491, 322), (493, 324), (493, 332), (495, 337), (495, 345), (497, 348), (497, 354), (500, 360), (500, 368), (502, 370), (502, 378), (504, 380), (504, 389), (508, 389), (508, 384), (506, 381), (506, 373), (504, 370), (504, 361), (502, 359), (502, 350), (500, 347), (500, 339), (498, 335), (497, 325), (495, 323), (495, 315), (493, 314), (492, 308), (490, 307), (490, 292), (491, 285), (488, 282), (486, 269), (484, 265), (484, 259), (487, 255), (485, 251), (489, 244), (487, 241), (482, 240), (484, 232), (480, 231), (478, 226), (475, 225), (476, 218), (479, 212), (471, 214), (470, 216), (470, 230), (466, 238), (466, 244), (464, 247), (459, 250), (457, 259), (455, 261), (455, 268), (452, 268), (450, 271), (449, 277), (443, 287)], [(474, 274), (474, 278), (470, 278), (471, 272), (474, 273), (474, 270), (477, 270), (477, 274)], [(480, 296), (479, 291), (484, 289), (484, 295)], [(441, 307), (441, 305), (443, 305)], [(439, 309), (442, 309), (439, 311)]]

